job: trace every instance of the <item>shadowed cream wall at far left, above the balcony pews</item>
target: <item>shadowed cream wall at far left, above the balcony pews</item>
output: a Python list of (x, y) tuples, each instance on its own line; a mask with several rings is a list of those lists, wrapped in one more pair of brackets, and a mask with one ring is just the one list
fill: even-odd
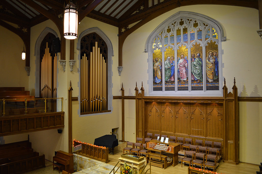
[(25, 60), (22, 60), (24, 42), (18, 35), (2, 26), (0, 33), (0, 62), (4, 65), (0, 69), (0, 87), (25, 87), (27, 91), (29, 77), (25, 71)]

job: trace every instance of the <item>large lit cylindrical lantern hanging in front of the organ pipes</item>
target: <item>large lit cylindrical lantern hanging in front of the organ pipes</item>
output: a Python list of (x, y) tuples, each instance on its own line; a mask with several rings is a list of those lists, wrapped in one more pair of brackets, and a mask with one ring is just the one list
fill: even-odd
[(69, 1), (64, 7), (64, 38), (76, 39), (78, 27), (78, 12), (75, 4)]

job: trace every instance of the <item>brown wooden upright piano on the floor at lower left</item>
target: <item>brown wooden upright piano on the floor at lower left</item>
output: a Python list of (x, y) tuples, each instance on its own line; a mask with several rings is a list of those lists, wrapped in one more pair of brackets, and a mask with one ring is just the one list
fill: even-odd
[(64, 152), (62, 150), (57, 151), (57, 154), (53, 156), (53, 164), (58, 162), (64, 165), (64, 170), (73, 173), (74, 172), (74, 155)]

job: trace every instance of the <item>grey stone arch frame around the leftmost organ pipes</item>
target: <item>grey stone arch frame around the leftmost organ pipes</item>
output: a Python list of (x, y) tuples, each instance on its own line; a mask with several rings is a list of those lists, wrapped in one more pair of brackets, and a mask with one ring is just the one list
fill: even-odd
[[(52, 33), (53, 35), (55, 35), (56, 37), (58, 37), (57, 33), (49, 28), (49, 27), (45, 27), (45, 29), (41, 32), (41, 34), (39, 35), (39, 37), (37, 38), (36, 42), (35, 42), (35, 97), (40, 97), (40, 93), (39, 93), (39, 88), (40, 88), (40, 71), (39, 71), (39, 66), (40, 66), (40, 46), (41, 43), (43, 41), (43, 39), (46, 37), (46, 35), (48, 33)], [(57, 55), (57, 60), (59, 60), (59, 55)], [(58, 71), (57, 71), (58, 73)], [(57, 83), (57, 87), (58, 87), (58, 82)], [(58, 96), (57, 96), (58, 97)]]

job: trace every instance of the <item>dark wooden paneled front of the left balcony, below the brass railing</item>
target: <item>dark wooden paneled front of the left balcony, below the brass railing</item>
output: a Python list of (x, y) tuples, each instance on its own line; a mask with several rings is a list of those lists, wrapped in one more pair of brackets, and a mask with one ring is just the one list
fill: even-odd
[(64, 112), (0, 117), (0, 136), (64, 127)]

